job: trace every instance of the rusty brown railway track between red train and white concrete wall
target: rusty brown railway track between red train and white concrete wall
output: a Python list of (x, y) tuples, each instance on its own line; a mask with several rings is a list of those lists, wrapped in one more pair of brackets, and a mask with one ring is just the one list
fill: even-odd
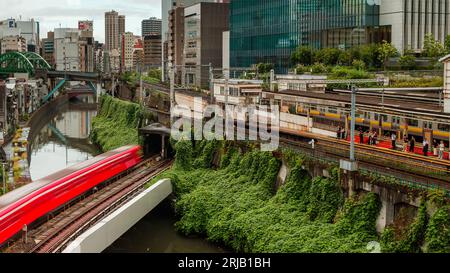
[(150, 179), (167, 170), (171, 164), (170, 160), (156, 162), (152, 158), (139, 164), (129, 175), (122, 173), (115, 182), (71, 203), (55, 217), (31, 230), (28, 233), (30, 242), (24, 244), (18, 240), (5, 252), (61, 252), (72, 240), (141, 193)]

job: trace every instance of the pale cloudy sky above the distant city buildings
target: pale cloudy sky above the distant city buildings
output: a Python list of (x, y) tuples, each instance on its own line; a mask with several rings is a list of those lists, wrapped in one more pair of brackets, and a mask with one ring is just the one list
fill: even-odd
[(95, 39), (104, 42), (105, 12), (112, 9), (126, 16), (126, 31), (136, 35), (141, 34), (143, 19), (161, 17), (161, 0), (14, 0), (9, 6), (0, 1), (1, 20), (34, 18), (41, 25), (41, 38), (60, 25), (77, 28), (79, 20), (94, 20)]

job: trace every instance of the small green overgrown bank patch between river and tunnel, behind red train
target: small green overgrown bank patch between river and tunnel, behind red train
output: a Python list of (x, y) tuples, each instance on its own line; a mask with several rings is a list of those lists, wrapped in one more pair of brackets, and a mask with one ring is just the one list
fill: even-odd
[(142, 117), (143, 110), (139, 104), (102, 96), (100, 110), (92, 121), (91, 140), (103, 151), (138, 144)]

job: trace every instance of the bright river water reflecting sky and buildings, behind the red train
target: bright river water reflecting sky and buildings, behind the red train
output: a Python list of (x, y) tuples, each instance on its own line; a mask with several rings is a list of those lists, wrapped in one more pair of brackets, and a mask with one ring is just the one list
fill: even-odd
[(98, 154), (89, 141), (95, 110), (78, 110), (81, 101), (71, 103), (36, 134), (31, 145), (32, 180), (86, 161)]

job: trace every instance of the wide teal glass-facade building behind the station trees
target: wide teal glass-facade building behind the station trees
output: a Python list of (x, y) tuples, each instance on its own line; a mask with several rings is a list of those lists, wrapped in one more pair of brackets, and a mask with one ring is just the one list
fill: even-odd
[(286, 72), (299, 45), (349, 48), (390, 41), (377, 0), (233, 0), (230, 65), (273, 63)]

